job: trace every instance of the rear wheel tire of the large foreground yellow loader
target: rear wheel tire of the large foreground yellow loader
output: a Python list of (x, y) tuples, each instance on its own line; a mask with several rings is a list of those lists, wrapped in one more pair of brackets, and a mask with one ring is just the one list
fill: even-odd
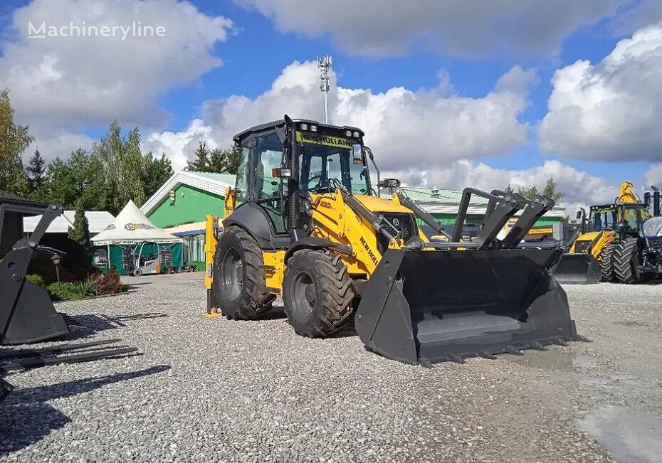
[(229, 319), (254, 320), (271, 309), (275, 294), (266, 287), (262, 250), (246, 230), (229, 227), (214, 253), (216, 307)]

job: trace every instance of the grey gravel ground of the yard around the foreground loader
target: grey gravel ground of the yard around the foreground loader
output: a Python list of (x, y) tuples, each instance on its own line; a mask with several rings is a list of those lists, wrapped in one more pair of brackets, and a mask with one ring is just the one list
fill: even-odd
[(12, 375), (0, 458), (90, 461), (662, 461), (662, 287), (566, 287), (572, 343), (408, 366), (283, 312), (204, 319), (200, 274), (57, 304), (73, 339), (144, 353)]

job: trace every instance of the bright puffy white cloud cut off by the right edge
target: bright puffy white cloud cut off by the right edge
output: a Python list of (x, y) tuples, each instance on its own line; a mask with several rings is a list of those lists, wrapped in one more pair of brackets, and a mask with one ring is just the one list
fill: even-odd
[(556, 71), (540, 149), (582, 159), (662, 160), (662, 23), (619, 41), (597, 65)]

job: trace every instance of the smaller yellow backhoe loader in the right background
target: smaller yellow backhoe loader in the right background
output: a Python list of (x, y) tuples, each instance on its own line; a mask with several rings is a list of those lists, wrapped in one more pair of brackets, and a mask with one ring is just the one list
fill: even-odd
[(621, 183), (614, 203), (590, 206), (588, 220), (584, 211), (579, 211), (582, 231), (568, 241), (568, 252), (555, 270), (556, 279), (584, 284), (614, 280), (614, 251), (621, 238), (636, 236), (645, 216), (646, 205), (629, 181)]

